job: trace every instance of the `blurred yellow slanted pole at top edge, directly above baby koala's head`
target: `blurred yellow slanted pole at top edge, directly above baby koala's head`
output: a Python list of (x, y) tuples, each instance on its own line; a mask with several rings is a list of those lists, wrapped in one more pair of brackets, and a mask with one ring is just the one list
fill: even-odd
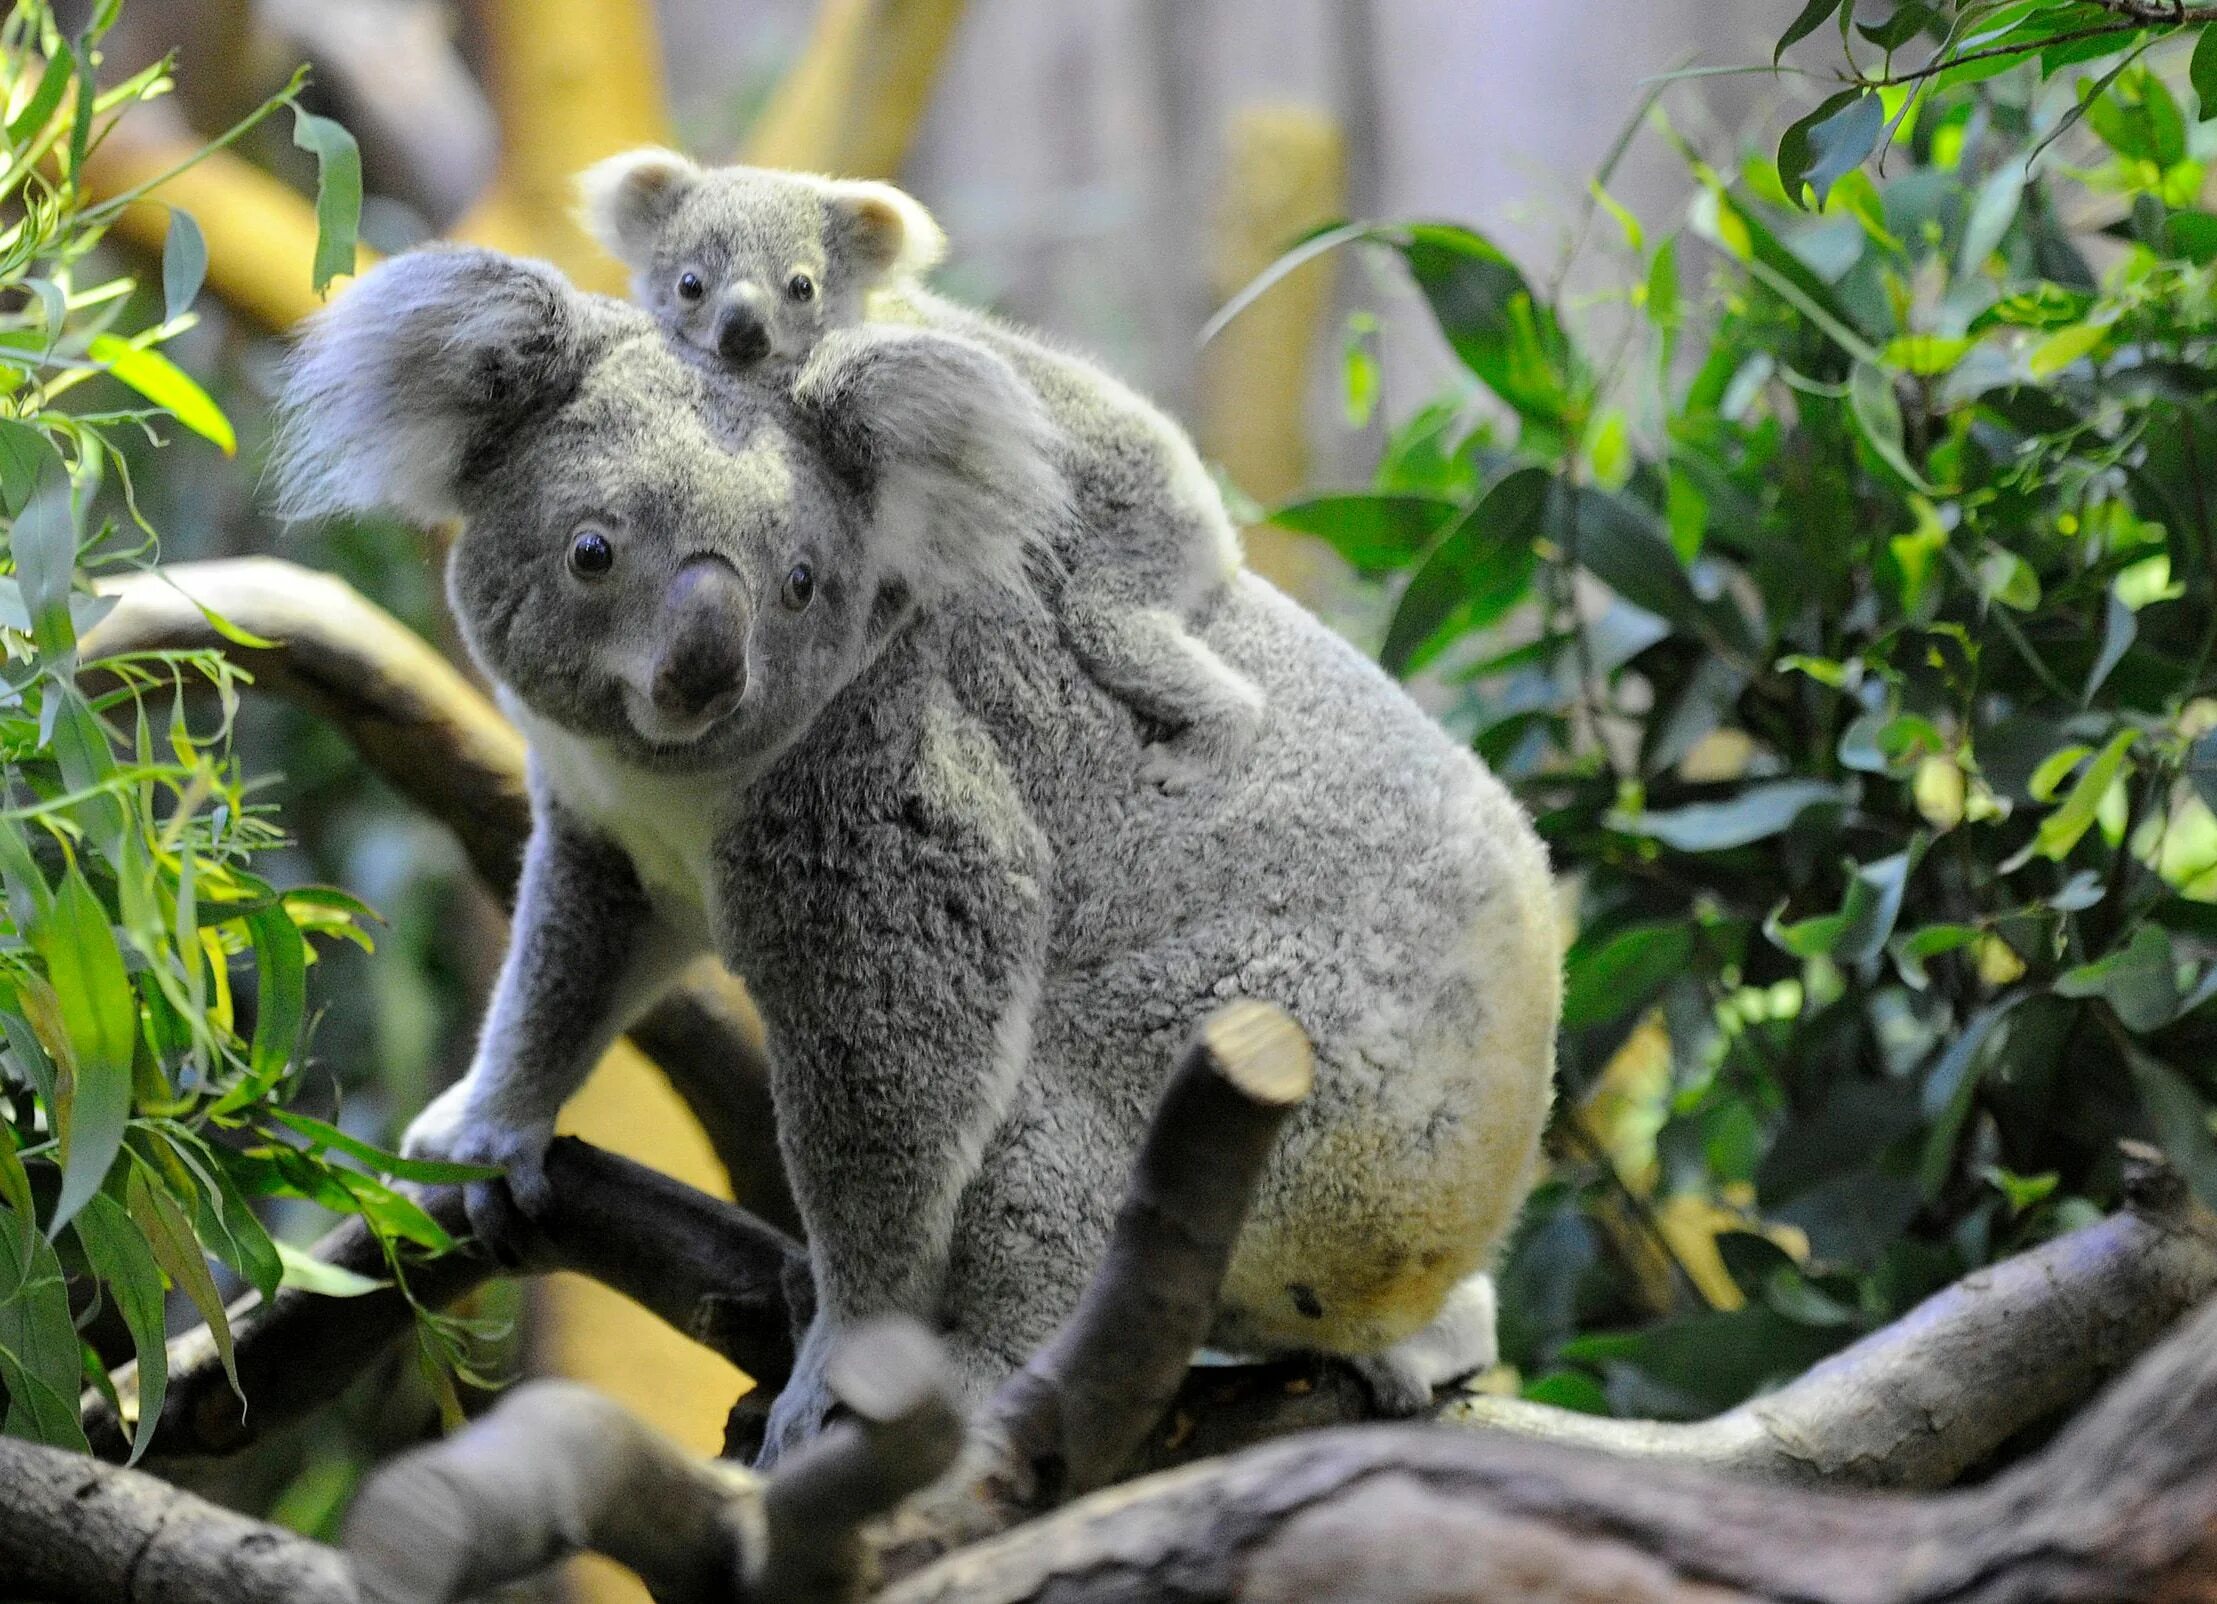
[(743, 162), (893, 177), (924, 120), (962, 0), (825, 0)]

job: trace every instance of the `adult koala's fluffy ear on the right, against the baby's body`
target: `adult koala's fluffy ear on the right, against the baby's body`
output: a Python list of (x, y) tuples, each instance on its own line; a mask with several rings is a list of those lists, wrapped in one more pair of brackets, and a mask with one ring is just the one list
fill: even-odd
[(865, 323), (825, 335), (794, 399), (871, 492), (871, 541), (920, 603), (978, 587), (1033, 598), (1069, 483), (1060, 432), (1007, 361), (960, 335)]

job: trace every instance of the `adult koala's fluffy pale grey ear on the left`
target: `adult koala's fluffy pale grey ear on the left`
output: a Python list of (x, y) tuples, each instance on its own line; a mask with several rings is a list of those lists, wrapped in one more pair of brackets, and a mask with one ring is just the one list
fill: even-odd
[(470, 452), (576, 388), (583, 312), (554, 268), (497, 250), (437, 246), (370, 268), (286, 361), (279, 512), (457, 516)]

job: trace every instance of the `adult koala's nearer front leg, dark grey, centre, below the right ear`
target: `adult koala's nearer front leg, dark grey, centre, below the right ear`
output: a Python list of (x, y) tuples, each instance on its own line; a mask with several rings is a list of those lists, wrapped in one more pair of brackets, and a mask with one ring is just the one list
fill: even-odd
[(987, 747), (949, 738), (918, 767), (893, 818), (818, 818), (811, 871), (785, 857), (774, 891), (725, 897), (818, 1300), (765, 1462), (823, 1425), (842, 1331), (938, 1320), (956, 1205), (1029, 1057), (1046, 851)]

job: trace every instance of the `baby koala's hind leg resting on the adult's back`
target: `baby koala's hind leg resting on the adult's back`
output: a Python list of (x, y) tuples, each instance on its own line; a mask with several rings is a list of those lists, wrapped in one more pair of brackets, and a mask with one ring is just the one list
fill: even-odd
[(1146, 778), (1162, 789), (1182, 791), (1246, 753), (1261, 691), (1168, 609), (1073, 580), (1062, 631), (1095, 685), (1162, 727), (1146, 753)]

